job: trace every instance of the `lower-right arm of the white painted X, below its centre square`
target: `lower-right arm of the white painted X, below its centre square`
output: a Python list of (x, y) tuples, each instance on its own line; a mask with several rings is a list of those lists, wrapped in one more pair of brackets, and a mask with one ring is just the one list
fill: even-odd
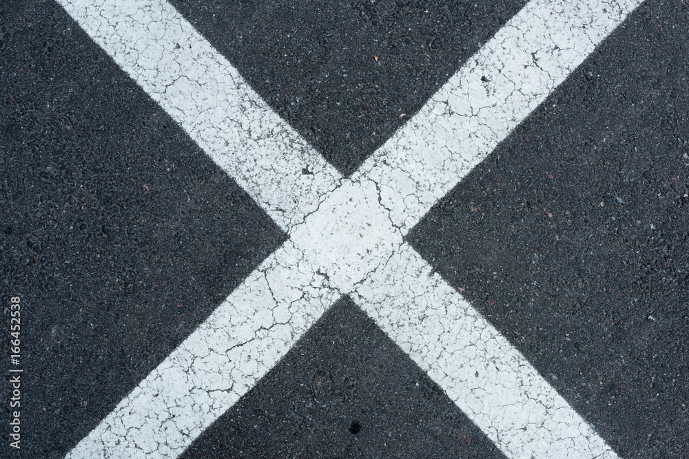
[(508, 458), (617, 457), (411, 246), (352, 298)]

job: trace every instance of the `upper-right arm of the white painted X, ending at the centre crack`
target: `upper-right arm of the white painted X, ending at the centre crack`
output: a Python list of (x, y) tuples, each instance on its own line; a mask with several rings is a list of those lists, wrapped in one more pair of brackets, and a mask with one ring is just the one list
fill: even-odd
[(352, 179), (380, 184), (406, 234), (640, 3), (529, 2)]

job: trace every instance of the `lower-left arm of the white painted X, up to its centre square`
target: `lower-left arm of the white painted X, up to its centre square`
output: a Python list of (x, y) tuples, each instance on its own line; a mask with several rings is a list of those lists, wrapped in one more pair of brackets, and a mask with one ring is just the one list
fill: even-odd
[(338, 293), (276, 250), (67, 458), (174, 458), (243, 396)]

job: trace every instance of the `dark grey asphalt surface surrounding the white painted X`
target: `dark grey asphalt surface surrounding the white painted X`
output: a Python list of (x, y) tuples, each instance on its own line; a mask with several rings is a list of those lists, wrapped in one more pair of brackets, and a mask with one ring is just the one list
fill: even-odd
[[(522, 6), (172, 3), (347, 175)], [(646, 1), (407, 236), (622, 458), (689, 448), (688, 39)], [(53, 1), (0, 90), (0, 457), (60, 458), (285, 235)], [(503, 456), (345, 298), (183, 457)]]

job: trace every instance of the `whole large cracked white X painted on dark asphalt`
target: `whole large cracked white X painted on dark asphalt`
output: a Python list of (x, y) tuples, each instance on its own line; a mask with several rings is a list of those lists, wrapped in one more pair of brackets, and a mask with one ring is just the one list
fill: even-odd
[(178, 456), (345, 294), (506, 456), (615, 457), (404, 235), (639, 2), (528, 3), (351, 180), (169, 4), (61, 3), (290, 237), (68, 457)]

